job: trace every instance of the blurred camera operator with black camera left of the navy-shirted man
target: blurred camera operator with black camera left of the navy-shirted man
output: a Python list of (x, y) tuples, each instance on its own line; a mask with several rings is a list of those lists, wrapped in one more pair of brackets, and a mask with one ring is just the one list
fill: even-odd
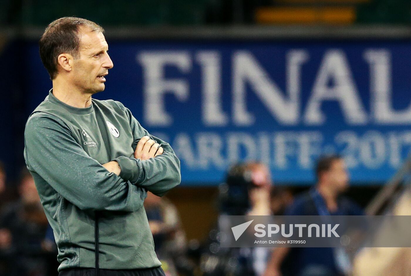
[[(233, 165), (220, 186), (220, 215), (267, 216), (271, 214), (272, 181), (266, 165), (256, 162)], [(219, 223), (221, 223), (219, 219)], [(218, 229), (201, 256), (203, 276), (259, 276), (266, 269), (270, 248), (221, 248)]]

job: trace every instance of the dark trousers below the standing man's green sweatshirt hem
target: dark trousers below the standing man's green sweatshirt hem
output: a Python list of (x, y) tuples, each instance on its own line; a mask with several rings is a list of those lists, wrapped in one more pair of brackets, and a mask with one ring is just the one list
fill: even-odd
[[(62, 270), (58, 276), (96, 276), (94, 268), (72, 268)], [(165, 276), (161, 267), (145, 268), (145, 269), (99, 269), (99, 276)]]

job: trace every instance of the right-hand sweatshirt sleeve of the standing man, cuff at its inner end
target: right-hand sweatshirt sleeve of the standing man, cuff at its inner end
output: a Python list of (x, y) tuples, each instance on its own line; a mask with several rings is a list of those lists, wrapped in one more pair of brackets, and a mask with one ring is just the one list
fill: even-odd
[(155, 195), (163, 196), (181, 181), (180, 160), (178, 160), (171, 146), (154, 137), (145, 130), (131, 114), (131, 111), (120, 102), (117, 104), (127, 113), (130, 120), (130, 127), (133, 132), (133, 149), (136, 149), (137, 142), (145, 135), (157, 141), (164, 149), (163, 154), (148, 160), (140, 160), (133, 157), (120, 156), (115, 161), (121, 168), (120, 176), (138, 186), (146, 188)]

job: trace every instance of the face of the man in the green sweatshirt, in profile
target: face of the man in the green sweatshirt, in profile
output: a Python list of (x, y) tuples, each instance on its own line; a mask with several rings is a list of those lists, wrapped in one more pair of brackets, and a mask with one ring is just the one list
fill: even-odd
[(91, 32), (80, 28), (79, 58), (73, 60), (72, 81), (83, 93), (94, 94), (103, 91), (108, 70), (113, 68), (107, 51), (109, 45), (102, 32)]

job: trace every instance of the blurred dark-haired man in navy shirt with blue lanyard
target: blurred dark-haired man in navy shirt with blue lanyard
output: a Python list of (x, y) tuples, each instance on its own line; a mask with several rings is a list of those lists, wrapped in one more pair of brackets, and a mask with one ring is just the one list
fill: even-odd
[[(296, 197), (289, 216), (360, 216), (361, 208), (342, 196), (349, 186), (345, 162), (339, 155), (319, 158), (317, 183)], [(287, 261), (284, 260), (287, 257)], [(284, 266), (282, 266), (284, 262)], [(281, 272), (283, 268), (283, 274)], [(351, 270), (343, 248), (275, 248), (264, 276), (342, 276)]]

